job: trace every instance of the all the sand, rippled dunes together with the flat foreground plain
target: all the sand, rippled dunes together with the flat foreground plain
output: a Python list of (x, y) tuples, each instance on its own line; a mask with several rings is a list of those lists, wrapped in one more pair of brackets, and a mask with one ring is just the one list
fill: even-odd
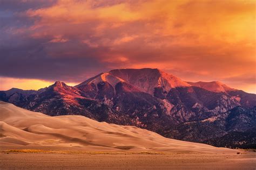
[[(125, 158), (127, 160), (124, 161), (124, 164), (122, 162), (117, 164), (118, 166), (120, 164), (119, 167), (123, 165), (127, 169), (133, 168), (133, 166), (125, 166), (129, 161), (134, 160), (132, 161), (135, 162), (134, 167), (143, 168), (142, 162), (144, 164), (145, 161), (148, 162), (146, 165), (149, 166), (159, 158), (161, 158), (159, 166), (162, 162), (162, 168), (169, 168), (170, 164), (174, 165), (174, 162), (177, 163), (177, 167), (183, 168), (181, 165), (184, 161), (189, 167), (193, 167), (194, 164), (200, 166), (202, 162), (206, 165), (207, 160), (211, 162), (223, 160), (225, 162), (228, 158), (240, 160), (248, 168), (256, 166), (253, 163), (256, 162), (253, 152), (164, 138), (145, 129), (97, 122), (84, 116), (50, 117), (5, 102), (0, 102), (0, 150), (2, 162), (0, 166), (3, 169), (28, 168), (28, 165), (31, 165), (30, 168), (37, 169), (49, 166), (79, 168), (76, 161), (77, 163), (87, 161), (84, 166), (90, 165), (89, 168), (94, 167), (93, 162), (99, 168), (107, 165), (114, 168), (114, 165), (110, 164), (111, 161), (120, 161)], [(24, 157), (28, 159), (24, 160)], [(43, 163), (44, 166), (36, 164), (37, 161), (42, 163), (41, 158), (47, 159)], [(62, 161), (74, 159), (75, 162), (68, 164), (67, 161), (64, 161), (67, 165), (61, 166), (53, 161), (61, 158), (63, 158)], [(172, 160), (173, 158), (175, 160)], [(96, 164), (97, 161), (93, 161), (95, 159), (102, 159), (103, 162), (109, 161), (106, 161), (106, 164)], [(142, 162), (139, 163), (139, 160)], [(239, 163), (239, 161), (236, 162)], [(230, 163), (236, 165), (233, 164), (233, 161)], [(139, 166), (136, 166), (137, 164)], [(223, 165), (225, 164), (223, 163)], [(236, 167), (239, 166), (242, 165), (239, 164)], [(158, 168), (157, 165), (148, 168), (150, 167)], [(202, 167), (204, 166), (202, 165)]]

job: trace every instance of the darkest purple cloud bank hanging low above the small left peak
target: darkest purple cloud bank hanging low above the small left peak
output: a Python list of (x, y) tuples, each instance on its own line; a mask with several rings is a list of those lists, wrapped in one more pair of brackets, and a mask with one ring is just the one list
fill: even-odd
[(1, 75), (79, 82), (106, 70), (95, 56), (99, 50), (94, 52), (76, 41), (49, 43), (49, 40), (12, 38), (13, 44), (0, 48)]

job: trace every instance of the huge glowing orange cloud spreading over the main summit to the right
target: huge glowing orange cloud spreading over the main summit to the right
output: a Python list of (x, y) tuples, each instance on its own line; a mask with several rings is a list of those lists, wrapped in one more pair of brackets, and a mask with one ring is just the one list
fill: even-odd
[(229, 77), (255, 77), (255, 1), (59, 0), (23, 15), (35, 20), (31, 39), (65, 42), (44, 44), (49, 58), (96, 60), (104, 70), (160, 68), (230, 86), (237, 82)]

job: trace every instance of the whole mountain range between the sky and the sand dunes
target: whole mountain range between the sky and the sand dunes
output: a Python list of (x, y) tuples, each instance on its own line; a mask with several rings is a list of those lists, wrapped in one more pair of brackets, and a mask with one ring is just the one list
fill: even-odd
[(186, 82), (159, 69), (114, 69), (75, 87), (0, 91), (0, 100), (50, 116), (83, 115), (165, 137), (256, 147), (256, 95), (224, 83)]

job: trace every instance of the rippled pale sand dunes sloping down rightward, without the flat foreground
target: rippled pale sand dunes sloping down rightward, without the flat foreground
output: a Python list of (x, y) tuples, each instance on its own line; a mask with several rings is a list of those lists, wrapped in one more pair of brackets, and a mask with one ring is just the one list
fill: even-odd
[(84, 116), (50, 117), (0, 102), (0, 145), (69, 147), (84, 150), (236, 153), (236, 150), (164, 138), (134, 126)]

